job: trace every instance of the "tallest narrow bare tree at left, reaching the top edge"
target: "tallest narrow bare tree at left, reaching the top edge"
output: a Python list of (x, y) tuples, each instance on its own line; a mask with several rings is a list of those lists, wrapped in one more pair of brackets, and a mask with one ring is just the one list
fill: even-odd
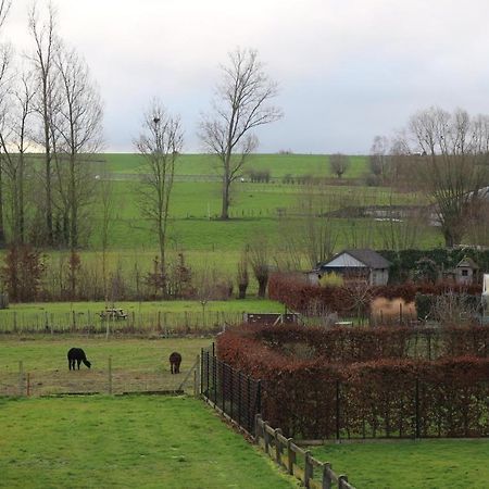
[(52, 149), (52, 118), (53, 104), (55, 100), (55, 55), (59, 48), (57, 36), (57, 13), (52, 3), (46, 10), (46, 17), (40, 18), (39, 11), (34, 4), (29, 13), (29, 30), (34, 39), (35, 50), (32, 55), (34, 76), (38, 84), (36, 111), (40, 118), (39, 143), (45, 150), (45, 240), (47, 244), (54, 243), (53, 234), (53, 149)]

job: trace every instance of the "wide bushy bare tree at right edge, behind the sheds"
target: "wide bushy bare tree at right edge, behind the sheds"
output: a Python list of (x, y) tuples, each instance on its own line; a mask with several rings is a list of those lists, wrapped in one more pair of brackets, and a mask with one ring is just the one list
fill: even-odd
[(460, 109), (449, 113), (430, 108), (410, 120), (416, 180), (448, 247), (462, 241), (481, 188), (489, 184), (488, 128), (487, 118), (473, 118)]

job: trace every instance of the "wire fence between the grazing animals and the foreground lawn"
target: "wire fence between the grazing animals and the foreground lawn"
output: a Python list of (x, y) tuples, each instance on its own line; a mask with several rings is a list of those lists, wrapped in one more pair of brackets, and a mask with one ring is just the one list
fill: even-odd
[(198, 391), (198, 362), (179, 374), (163, 369), (134, 369), (108, 358), (97, 368), (30, 369), (23, 361), (16, 372), (0, 366), (0, 396), (188, 393)]

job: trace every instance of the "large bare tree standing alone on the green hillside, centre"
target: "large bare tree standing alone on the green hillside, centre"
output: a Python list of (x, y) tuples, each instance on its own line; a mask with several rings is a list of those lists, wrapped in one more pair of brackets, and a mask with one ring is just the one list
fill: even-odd
[(283, 113), (268, 103), (277, 95), (277, 85), (264, 72), (256, 51), (238, 48), (229, 53), (229, 64), (221, 68), (223, 77), (215, 90), (212, 113), (201, 121), (199, 136), (221, 162), (221, 218), (227, 220), (230, 186), (258, 146), (252, 130), (279, 120)]

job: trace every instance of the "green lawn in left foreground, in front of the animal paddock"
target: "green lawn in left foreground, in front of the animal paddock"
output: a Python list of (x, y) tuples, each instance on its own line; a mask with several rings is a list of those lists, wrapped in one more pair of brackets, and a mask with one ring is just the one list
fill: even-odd
[(297, 487), (201, 401), (0, 400), (5, 488)]

